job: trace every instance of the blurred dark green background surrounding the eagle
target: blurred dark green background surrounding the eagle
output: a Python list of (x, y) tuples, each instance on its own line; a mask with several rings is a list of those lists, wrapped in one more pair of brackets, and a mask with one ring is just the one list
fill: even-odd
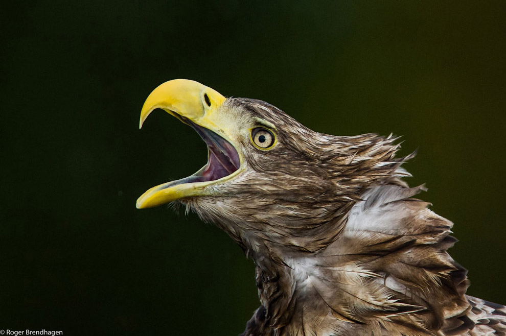
[[(205, 163), (158, 84), (258, 98), (325, 133), (404, 135), (469, 293), (506, 303), (506, 2), (33, 1), (0, 10), (0, 329), (234, 335), (254, 267), (147, 188)], [(12, 6), (12, 5), (11, 5)]]

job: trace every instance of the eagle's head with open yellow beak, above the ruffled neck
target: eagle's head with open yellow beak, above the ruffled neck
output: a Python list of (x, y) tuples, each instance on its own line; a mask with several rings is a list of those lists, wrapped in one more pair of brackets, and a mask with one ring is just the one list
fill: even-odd
[(180, 202), (248, 253), (316, 252), (335, 240), (361, 190), (405, 175), (392, 136), (321, 134), (266, 102), (225, 98), (195, 81), (158, 86), (140, 126), (156, 108), (195, 129), (208, 146), (208, 162), (149, 189), (137, 208)]

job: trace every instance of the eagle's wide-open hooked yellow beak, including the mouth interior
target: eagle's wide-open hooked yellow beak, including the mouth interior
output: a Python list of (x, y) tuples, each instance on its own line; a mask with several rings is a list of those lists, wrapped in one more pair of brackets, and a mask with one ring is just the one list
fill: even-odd
[(202, 196), (205, 186), (227, 180), (240, 171), (242, 155), (231, 141), (234, 125), (222, 118), (226, 98), (198, 82), (175, 79), (151, 92), (141, 111), (141, 128), (148, 115), (161, 108), (193, 127), (208, 145), (208, 163), (197, 173), (147, 190), (137, 208), (149, 208), (181, 198)]

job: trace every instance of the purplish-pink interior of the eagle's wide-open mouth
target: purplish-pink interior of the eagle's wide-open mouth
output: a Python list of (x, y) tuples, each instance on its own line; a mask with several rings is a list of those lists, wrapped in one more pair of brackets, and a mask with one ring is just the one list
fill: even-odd
[(190, 119), (174, 113), (181, 122), (190, 125), (208, 146), (208, 163), (193, 175), (159, 186), (159, 190), (183, 183), (219, 180), (239, 169), (240, 160), (234, 146), (215, 132), (199, 126)]

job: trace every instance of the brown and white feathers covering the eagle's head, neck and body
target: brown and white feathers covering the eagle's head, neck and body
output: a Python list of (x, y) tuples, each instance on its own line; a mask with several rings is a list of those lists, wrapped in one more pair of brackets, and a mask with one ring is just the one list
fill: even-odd
[(397, 138), (320, 134), (258, 100), (219, 109), (277, 137), (238, 136), (244, 171), (176, 201), (255, 261), (261, 306), (242, 335), (506, 335), (506, 308), (466, 295), (453, 224), (402, 180)]

